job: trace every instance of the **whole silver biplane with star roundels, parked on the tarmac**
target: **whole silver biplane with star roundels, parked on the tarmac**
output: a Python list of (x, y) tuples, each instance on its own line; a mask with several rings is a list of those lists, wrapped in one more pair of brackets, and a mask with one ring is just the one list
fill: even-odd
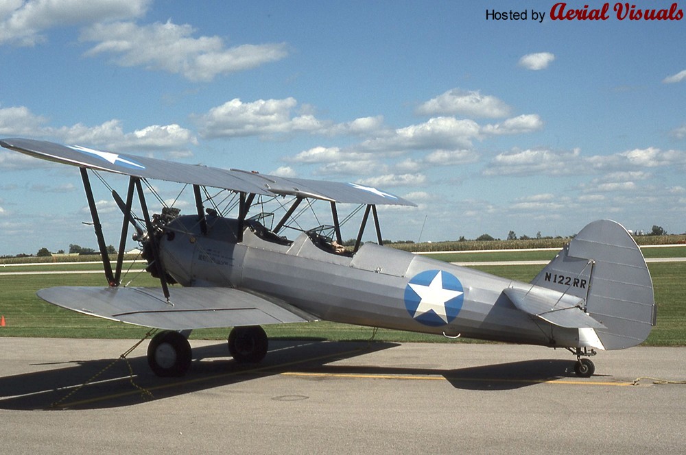
[[(180, 376), (189, 369), (191, 330), (233, 328), (230, 355), (238, 362), (259, 362), (268, 351), (262, 325), (321, 319), (566, 348), (576, 356), (576, 373), (589, 377), (596, 349), (635, 346), (655, 323), (646, 262), (615, 221), (584, 227), (525, 283), (384, 247), (377, 206), (414, 204), (370, 186), (23, 138), (6, 138), (0, 145), (78, 167), (91, 210), (106, 286), (59, 286), (38, 296), (86, 315), (161, 329), (147, 349), (158, 376)], [(125, 197), (112, 190), (123, 213), (114, 267), (89, 178), (103, 171), (128, 176)], [(144, 188), (149, 180), (192, 188), (191, 213), (163, 207), (151, 215)], [(233, 202), (224, 204), (227, 198)], [(282, 213), (265, 212), (258, 203), (263, 199), (276, 201)], [(324, 204), (331, 221), (300, 227), (296, 214), (313, 201)], [(348, 248), (342, 246), (341, 206), (364, 209), (355, 243)], [(377, 242), (362, 243), (372, 224)], [(130, 226), (158, 287), (122, 284)]]

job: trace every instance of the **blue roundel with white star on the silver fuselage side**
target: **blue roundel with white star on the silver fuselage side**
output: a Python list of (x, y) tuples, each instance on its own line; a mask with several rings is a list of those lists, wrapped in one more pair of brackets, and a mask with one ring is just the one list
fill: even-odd
[(451, 323), (462, 309), (462, 302), (462, 283), (446, 271), (423, 271), (405, 286), (405, 308), (424, 325), (438, 327)]

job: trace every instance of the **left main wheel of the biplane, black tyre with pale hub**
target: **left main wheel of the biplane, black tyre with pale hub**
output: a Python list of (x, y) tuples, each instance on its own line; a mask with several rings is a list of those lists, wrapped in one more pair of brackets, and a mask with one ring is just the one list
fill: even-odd
[(160, 332), (147, 345), (147, 365), (163, 378), (183, 376), (191, 367), (191, 345), (179, 332)]

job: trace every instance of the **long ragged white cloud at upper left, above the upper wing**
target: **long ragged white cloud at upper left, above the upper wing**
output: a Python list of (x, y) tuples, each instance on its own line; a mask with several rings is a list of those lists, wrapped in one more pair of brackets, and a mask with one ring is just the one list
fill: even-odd
[(113, 56), (120, 66), (180, 74), (191, 81), (211, 81), (220, 74), (252, 69), (288, 54), (285, 43), (239, 45), (226, 48), (219, 36), (193, 38), (190, 25), (131, 22), (97, 23), (84, 29), (80, 39), (97, 42), (86, 56)]

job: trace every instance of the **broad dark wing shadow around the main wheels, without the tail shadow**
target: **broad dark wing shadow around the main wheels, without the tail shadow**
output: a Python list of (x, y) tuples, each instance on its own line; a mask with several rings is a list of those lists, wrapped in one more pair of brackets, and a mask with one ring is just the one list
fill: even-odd
[[(191, 343), (192, 345), (192, 343)], [(241, 365), (228, 357), (226, 342), (193, 347), (191, 368), (182, 378), (158, 378), (145, 356), (127, 360), (71, 360), (55, 369), (0, 378), (0, 409), (98, 409), (141, 404), (213, 389), (289, 371), (294, 365), (322, 367), (397, 346), (397, 343), (335, 343), (319, 340), (270, 340), (259, 365)], [(45, 365), (45, 364), (43, 364)], [(84, 385), (84, 383), (86, 383)]]

